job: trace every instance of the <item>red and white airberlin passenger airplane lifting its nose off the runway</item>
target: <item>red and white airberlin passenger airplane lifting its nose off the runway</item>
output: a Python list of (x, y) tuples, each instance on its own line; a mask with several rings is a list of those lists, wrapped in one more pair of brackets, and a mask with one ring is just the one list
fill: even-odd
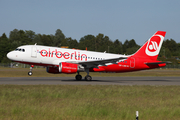
[(91, 81), (89, 72), (132, 72), (166, 66), (166, 62), (157, 61), (165, 31), (157, 31), (137, 52), (132, 55), (101, 53), (86, 50), (58, 48), (41, 45), (23, 45), (7, 54), (15, 62), (45, 66), (48, 73), (73, 74), (76, 80), (82, 80), (80, 72), (86, 72), (85, 80)]

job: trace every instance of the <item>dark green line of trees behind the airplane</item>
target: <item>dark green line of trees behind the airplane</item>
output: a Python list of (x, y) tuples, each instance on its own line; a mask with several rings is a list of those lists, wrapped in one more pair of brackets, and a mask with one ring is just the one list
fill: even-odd
[[(118, 39), (112, 41), (108, 36), (99, 33), (97, 36), (85, 35), (79, 41), (66, 37), (60, 29), (57, 29), (54, 35), (36, 34), (32, 30), (10, 31), (9, 37), (5, 33), (0, 36), (0, 62), (11, 62), (7, 59), (6, 54), (21, 45), (38, 45), (75, 48), (97, 52), (108, 52), (115, 54), (133, 54), (140, 46), (136, 44), (134, 39), (125, 40), (124, 43)], [(166, 39), (163, 42), (158, 59), (175, 59), (180, 56), (180, 43), (176, 43), (173, 39)], [(173, 60), (170, 60), (173, 61)], [(177, 61), (176, 61), (177, 63)]]

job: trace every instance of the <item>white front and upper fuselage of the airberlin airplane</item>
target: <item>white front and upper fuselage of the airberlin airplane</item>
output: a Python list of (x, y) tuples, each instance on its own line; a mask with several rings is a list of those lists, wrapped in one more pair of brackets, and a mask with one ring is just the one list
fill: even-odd
[[(24, 50), (24, 51), (23, 51)], [(38, 65), (58, 65), (59, 62), (99, 61), (124, 55), (91, 52), (86, 50), (67, 49), (40, 45), (25, 45), (8, 53), (8, 58), (17, 62)]]

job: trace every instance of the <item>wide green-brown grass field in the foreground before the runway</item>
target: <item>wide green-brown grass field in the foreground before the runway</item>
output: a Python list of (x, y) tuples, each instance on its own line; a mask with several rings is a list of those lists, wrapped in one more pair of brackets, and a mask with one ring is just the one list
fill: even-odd
[(0, 119), (180, 119), (179, 86), (0, 85)]

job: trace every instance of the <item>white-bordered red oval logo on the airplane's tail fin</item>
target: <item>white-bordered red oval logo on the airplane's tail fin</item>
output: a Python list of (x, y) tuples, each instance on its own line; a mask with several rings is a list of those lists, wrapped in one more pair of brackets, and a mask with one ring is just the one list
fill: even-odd
[(148, 44), (146, 46), (146, 54), (149, 56), (156, 56), (159, 54), (162, 42), (164, 37), (161, 35), (152, 36), (148, 40)]

